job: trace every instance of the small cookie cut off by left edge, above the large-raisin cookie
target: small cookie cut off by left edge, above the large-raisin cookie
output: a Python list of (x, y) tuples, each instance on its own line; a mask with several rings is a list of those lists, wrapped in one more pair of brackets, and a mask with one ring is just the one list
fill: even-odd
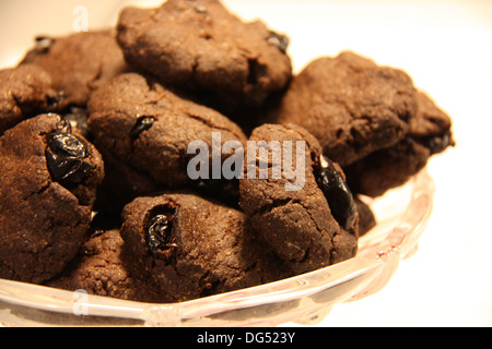
[(24, 119), (56, 109), (57, 97), (51, 76), (38, 67), (0, 70), (0, 135)]

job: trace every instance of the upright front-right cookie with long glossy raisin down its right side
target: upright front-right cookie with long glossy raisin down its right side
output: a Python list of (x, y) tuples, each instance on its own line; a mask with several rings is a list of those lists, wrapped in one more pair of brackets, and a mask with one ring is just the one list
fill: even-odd
[[(268, 159), (259, 152), (251, 156), (248, 148), (247, 173), (239, 181), (239, 205), (257, 233), (295, 273), (353, 257), (358, 249), (356, 206), (343, 172), (323, 156), (319, 142), (294, 124), (263, 124), (253, 131), (249, 141), (265, 142), (269, 155)], [(292, 154), (283, 148), (276, 155), (276, 142), (278, 149), (291, 146)], [(267, 176), (261, 177), (265, 165), (269, 165)], [(291, 171), (300, 185), (292, 186)], [(258, 176), (251, 178), (255, 172)]]

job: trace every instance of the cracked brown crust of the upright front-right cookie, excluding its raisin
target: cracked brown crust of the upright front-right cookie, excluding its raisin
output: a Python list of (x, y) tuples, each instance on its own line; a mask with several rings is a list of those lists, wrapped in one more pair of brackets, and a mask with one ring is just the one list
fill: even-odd
[[(249, 141), (304, 144), (302, 152), (292, 152), (291, 164), (298, 177), (304, 178), (302, 188), (286, 190), (285, 185), (292, 180), (285, 173), (276, 177), (272, 173), (274, 166), (268, 168), (267, 178), (247, 177), (239, 181), (239, 204), (250, 217), (256, 232), (295, 273), (312, 272), (354, 256), (356, 228), (352, 226), (349, 231), (341, 227), (343, 224), (335, 219), (330, 209), (330, 198), (317, 183), (316, 173), (323, 155), (318, 141), (294, 124), (263, 124), (253, 131)], [(302, 164), (297, 163), (297, 157), (303, 157), (303, 168), (296, 168)], [(258, 168), (266, 161), (261, 157), (255, 160), (250, 163), (248, 149), (247, 166)]]

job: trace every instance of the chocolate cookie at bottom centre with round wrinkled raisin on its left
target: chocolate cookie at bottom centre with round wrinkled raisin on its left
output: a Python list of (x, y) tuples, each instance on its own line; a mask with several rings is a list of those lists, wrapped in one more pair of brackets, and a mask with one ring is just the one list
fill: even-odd
[(133, 267), (175, 301), (290, 275), (256, 240), (244, 213), (192, 193), (138, 197), (122, 220)]

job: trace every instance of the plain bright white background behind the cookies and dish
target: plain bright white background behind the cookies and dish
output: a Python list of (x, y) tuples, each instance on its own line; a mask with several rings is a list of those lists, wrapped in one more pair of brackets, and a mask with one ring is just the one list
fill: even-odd
[[(0, 1), (0, 68), (15, 64), (38, 34), (114, 24), (125, 3)], [(434, 157), (434, 210), (419, 251), (380, 292), (340, 304), (318, 326), (492, 326), (492, 1), (224, 0), (245, 20), (262, 19), (291, 38), (295, 71), (353, 50), (407, 71), (454, 121), (456, 148)], [(292, 324), (288, 324), (292, 325)]]

